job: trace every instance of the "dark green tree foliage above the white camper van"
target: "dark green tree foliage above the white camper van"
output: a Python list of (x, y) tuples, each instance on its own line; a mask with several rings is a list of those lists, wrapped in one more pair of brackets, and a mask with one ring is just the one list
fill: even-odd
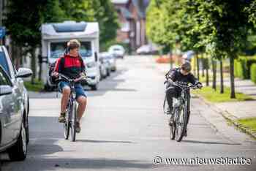
[(20, 47), (37, 47), (41, 42), (42, 23), (64, 20), (97, 21), (100, 41), (116, 37), (117, 14), (110, 0), (10, 0), (4, 25)]

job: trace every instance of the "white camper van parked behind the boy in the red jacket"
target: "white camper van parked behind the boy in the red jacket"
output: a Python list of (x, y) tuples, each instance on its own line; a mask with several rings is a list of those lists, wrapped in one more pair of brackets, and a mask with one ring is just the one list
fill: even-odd
[(64, 53), (67, 42), (70, 39), (78, 39), (81, 43), (80, 56), (86, 64), (88, 79), (83, 86), (90, 86), (97, 90), (99, 83), (99, 24), (75, 21), (64, 21), (64, 23), (42, 24), (42, 79), (45, 88), (52, 88), (48, 71), (49, 64), (56, 61)]

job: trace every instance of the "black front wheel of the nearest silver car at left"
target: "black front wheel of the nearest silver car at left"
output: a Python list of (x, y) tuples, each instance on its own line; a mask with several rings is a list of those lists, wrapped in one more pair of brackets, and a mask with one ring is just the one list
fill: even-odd
[(20, 128), (20, 135), (17, 142), (7, 150), (7, 153), (12, 161), (23, 161), (26, 159), (27, 143), (26, 143), (26, 128), (23, 121)]

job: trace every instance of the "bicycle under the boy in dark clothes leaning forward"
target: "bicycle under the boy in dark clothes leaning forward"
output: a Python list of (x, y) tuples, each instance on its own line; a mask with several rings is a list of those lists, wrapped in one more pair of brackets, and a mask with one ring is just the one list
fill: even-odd
[(169, 120), (170, 139), (171, 140), (175, 139), (177, 142), (180, 142), (184, 137), (184, 134), (187, 130), (187, 123), (189, 121), (188, 91), (190, 88), (196, 89), (198, 87), (194, 85), (184, 86), (175, 82), (172, 82), (172, 84), (173, 86), (181, 88), (181, 96), (178, 96), (177, 99), (173, 98), (173, 111), (168, 111), (168, 105), (166, 105), (167, 99), (165, 96), (163, 108), (164, 108), (164, 113), (171, 114), (170, 120)]

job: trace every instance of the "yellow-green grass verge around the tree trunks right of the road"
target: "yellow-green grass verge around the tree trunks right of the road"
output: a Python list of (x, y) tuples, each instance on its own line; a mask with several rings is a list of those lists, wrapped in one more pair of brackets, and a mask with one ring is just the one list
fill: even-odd
[(230, 98), (230, 88), (225, 87), (224, 94), (219, 94), (219, 86), (217, 91), (214, 91), (211, 87), (203, 87), (202, 89), (193, 90), (192, 94), (203, 96), (204, 99), (209, 102), (241, 102), (246, 100), (253, 100), (251, 96), (242, 93), (236, 93), (236, 99)]

